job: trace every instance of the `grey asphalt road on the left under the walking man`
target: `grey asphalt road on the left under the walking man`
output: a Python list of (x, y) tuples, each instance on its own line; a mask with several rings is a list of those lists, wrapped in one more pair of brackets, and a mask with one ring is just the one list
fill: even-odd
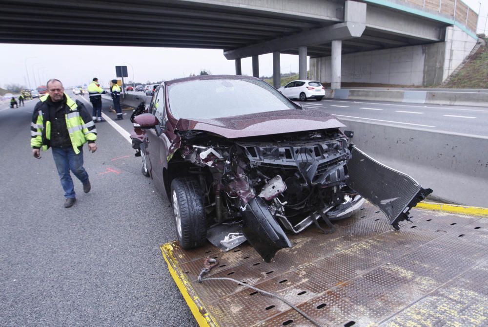
[(73, 177), (65, 209), (51, 150), (31, 154), (36, 102), (0, 107), (0, 326), (197, 326), (159, 249), (175, 239), (169, 203), (130, 143), (97, 124), (99, 149), (84, 147), (92, 190)]

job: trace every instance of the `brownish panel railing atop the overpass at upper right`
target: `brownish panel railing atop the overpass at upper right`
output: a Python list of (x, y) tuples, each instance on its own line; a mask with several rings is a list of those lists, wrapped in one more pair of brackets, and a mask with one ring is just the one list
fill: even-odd
[(405, 2), (452, 16), (454, 20), (476, 32), (478, 15), (461, 0), (405, 0)]

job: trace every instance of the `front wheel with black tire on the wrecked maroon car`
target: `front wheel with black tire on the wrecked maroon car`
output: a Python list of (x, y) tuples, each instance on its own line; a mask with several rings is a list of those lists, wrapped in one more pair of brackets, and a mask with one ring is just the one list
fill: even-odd
[(203, 195), (198, 181), (193, 178), (173, 179), (171, 202), (180, 246), (183, 249), (202, 246), (207, 231)]

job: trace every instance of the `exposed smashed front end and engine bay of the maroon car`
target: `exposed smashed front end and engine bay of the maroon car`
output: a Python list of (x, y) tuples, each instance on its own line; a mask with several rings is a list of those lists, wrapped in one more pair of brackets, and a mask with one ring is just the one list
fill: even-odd
[[(330, 227), (323, 231), (330, 233), (330, 220), (349, 217), (364, 202), (346, 185), (351, 153), (338, 129), (232, 141), (198, 131), (181, 137), (183, 160), (200, 167), (210, 225), (227, 227), (217, 228), (216, 240), (208, 230), (209, 240), (224, 250), (247, 239), (270, 261), (291, 246), (282, 226), (293, 233), (312, 223), (322, 229), (317, 219), (323, 218)], [(263, 242), (260, 231), (273, 242)]]

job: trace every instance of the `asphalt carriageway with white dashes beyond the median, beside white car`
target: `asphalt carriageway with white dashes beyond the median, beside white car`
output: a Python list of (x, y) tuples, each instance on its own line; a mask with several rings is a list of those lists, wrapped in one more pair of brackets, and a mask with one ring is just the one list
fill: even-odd
[(324, 109), (344, 121), (488, 136), (488, 107), (332, 99), (309, 100), (300, 104), (308, 109)]

